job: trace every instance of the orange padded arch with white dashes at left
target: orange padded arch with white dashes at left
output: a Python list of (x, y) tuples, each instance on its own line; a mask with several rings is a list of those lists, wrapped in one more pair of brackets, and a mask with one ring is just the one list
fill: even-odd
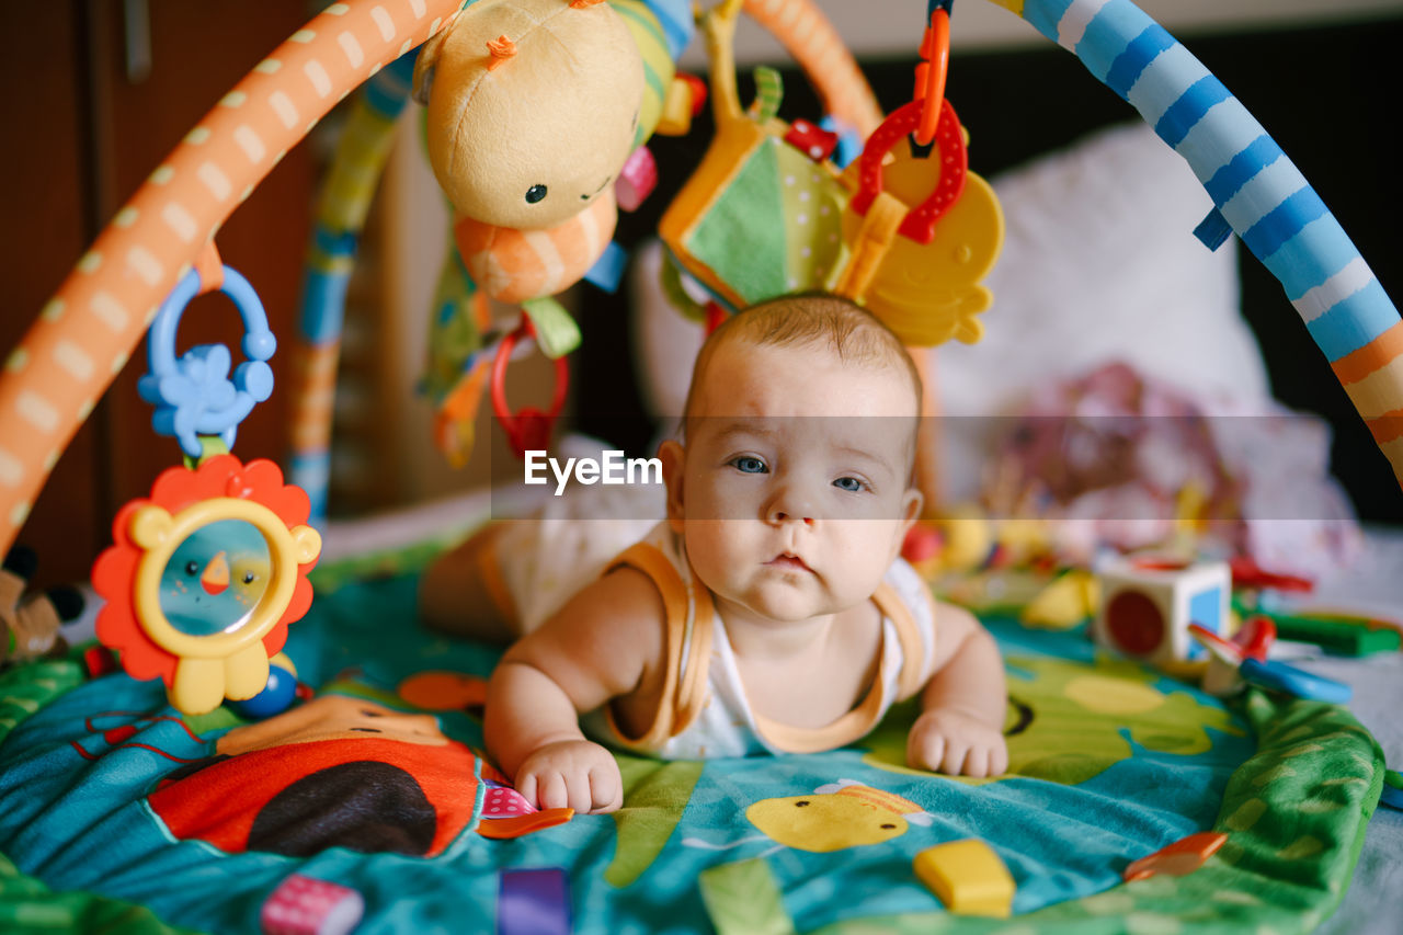
[(116, 213), (0, 371), (0, 550), (229, 215), (333, 105), (460, 4), (333, 3), (226, 94)]

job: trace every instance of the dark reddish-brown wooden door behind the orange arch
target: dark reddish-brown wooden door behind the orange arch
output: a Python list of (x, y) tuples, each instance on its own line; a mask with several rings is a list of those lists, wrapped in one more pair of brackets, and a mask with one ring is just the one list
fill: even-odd
[[(10, 310), (0, 347), (14, 347), (45, 299), (160, 160), (314, 10), (290, 0), (76, 0), (0, 4), (6, 125), (0, 177), (11, 205), (0, 216), (0, 281)], [(147, 52), (142, 55), (142, 51)], [(236, 453), (279, 458), (302, 260), (310, 230), (314, 156), (290, 150), (216, 237), (224, 263), (258, 291), (283, 352), (279, 390), (239, 431)], [(180, 351), (220, 341), (239, 361), (231, 303), (206, 296), (182, 317)], [(150, 430), (136, 393), (146, 348), (136, 348), (88, 424), (59, 459), (18, 542), (41, 553), (43, 581), (86, 578), (111, 541), (111, 519), (156, 475), (180, 463), (174, 439)]]

